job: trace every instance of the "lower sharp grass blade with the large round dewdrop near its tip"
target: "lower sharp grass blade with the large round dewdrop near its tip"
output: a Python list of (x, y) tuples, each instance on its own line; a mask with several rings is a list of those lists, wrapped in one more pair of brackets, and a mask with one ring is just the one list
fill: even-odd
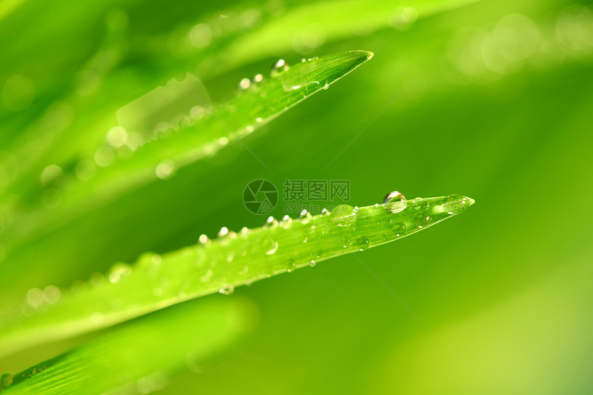
[(0, 355), (108, 327), (198, 296), (230, 293), (239, 285), (401, 239), (465, 211), (472, 203), (460, 195), (416, 198), (396, 213), (381, 205), (340, 205), (331, 214), (280, 224), (272, 221), (238, 234), (223, 228), (214, 241), (203, 240), (163, 256), (147, 254), (134, 267), (114, 265), (106, 281), (97, 285), (95, 278), (95, 286), (77, 295), (64, 291), (55, 305), (43, 304), (41, 290), (30, 291), (33, 300), (22, 307), (26, 316), (0, 324)]

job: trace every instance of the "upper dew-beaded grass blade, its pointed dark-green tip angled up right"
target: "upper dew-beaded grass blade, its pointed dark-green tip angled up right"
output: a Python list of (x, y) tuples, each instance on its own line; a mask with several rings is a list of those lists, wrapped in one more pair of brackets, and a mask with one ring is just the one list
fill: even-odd
[[(211, 156), (229, 143), (240, 143), (247, 148), (242, 139), (254, 130), (319, 90), (327, 89), (371, 57), (372, 52), (354, 50), (310, 59), (290, 68), (280, 65), (269, 77), (258, 78), (261, 81), (243, 83), (244, 89), (228, 102), (206, 110), (203, 118), (182, 120), (177, 129), (168, 130), (133, 153), (123, 150), (112, 164), (99, 168), (87, 181), (74, 174), (68, 179), (63, 174), (57, 182), (67, 186), (59, 191), (59, 206), (51, 210), (41, 208), (23, 217), (6, 235), (5, 244), (10, 248), (32, 232), (47, 232), (125, 192), (165, 179), (175, 170)], [(195, 95), (189, 88), (187, 94)], [(196, 96), (196, 105), (201, 104)], [(105, 147), (105, 154), (112, 156), (114, 151)]]

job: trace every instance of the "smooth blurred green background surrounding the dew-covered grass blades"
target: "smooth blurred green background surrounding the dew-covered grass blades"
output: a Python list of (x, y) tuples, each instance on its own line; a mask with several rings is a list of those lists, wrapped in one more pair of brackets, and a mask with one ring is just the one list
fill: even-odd
[[(234, 357), (161, 393), (590, 393), (592, 6), (484, 0), (431, 14), (430, 1), (1, 3), (0, 310), (222, 225), (261, 225), (241, 202), (252, 179), (348, 179), (352, 205), (461, 193), (476, 199), (470, 214), (359, 254), (417, 318), (341, 256), (208, 296), (250, 299), (258, 326)], [(157, 86), (190, 72), (219, 103), (279, 58), (354, 49), (375, 56), (245, 139), (271, 171), (230, 145), (5, 241), (13, 215), (55, 202), (43, 170), (94, 161), (117, 110)], [(4, 358), (0, 371), (76, 341)]]

